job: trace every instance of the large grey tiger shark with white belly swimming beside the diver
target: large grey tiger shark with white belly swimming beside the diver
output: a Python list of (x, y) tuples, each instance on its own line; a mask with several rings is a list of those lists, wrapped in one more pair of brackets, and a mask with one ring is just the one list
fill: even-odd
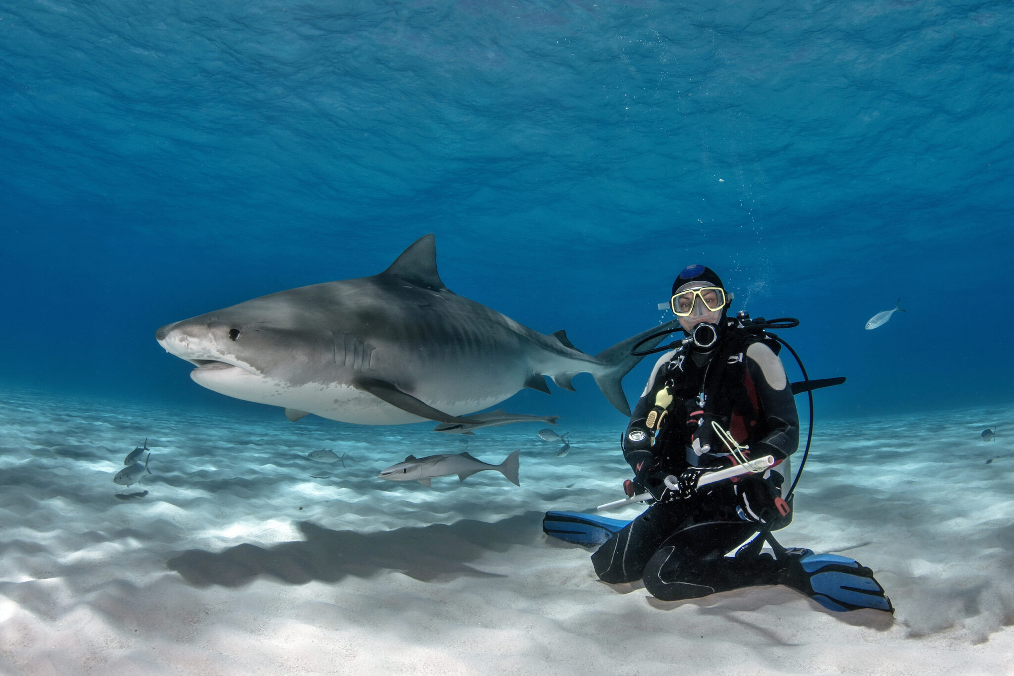
[(549, 393), (547, 376), (574, 391), (578, 373), (630, 416), (621, 381), (641, 361), (631, 347), (667, 327), (587, 355), (562, 330), (539, 333), (447, 289), (428, 234), (378, 275), (255, 298), (166, 324), (155, 339), (197, 367), (199, 385), (282, 406), (292, 421), (477, 425), (467, 414), (522, 388)]

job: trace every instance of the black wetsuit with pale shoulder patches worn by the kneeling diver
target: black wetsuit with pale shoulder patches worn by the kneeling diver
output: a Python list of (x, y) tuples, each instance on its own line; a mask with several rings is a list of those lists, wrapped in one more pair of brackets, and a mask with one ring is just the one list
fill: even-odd
[(777, 520), (787, 522), (777, 508), (787, 459), (799, 443), (799, 419), (785, 369), (769, 346), (778, 347), (729, 328), (711, 352), (687, 345), (655, 365), (623, 438), (636, 475), (736, 464), (713, 421), (749, 446), (747, 458), (772, 455), (779, 464), (763, 475), (717, 482), (691, 499), (653, 503), (592, 554), (601, 580), (643, 579), (665, 600), (777, 583), (773, 560), (725, 556), (773, 520), (776, 528)]

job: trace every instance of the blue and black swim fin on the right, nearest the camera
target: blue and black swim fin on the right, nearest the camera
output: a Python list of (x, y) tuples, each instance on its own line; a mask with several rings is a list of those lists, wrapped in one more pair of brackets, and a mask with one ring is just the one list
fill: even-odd
[(854, 558), (815, 554), (801, 547), (784, 551), (789, 560), (782, 584), (799, 590), (824, 608), (841, 611), (875, 608), (894, 612), (884, 588), (873, 578), (873, 571), (860, 566)]

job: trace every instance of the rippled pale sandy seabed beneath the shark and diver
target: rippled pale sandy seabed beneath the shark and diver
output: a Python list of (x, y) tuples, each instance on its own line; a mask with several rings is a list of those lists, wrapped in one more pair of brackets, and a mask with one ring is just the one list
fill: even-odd
[[(623, 497), (619, 429), (562, 420), (558, 457), (538, 424), (466, 441), (6, 391), (0, 672), (1014, 674), (1012, 423), (818, 424), (779, 539), (872, 568), (891, 616), (783, 587), (666, 603), (598, 582), (590, 550), (540, 521)], [(152, 474), (114, 484), (145, 437)], [(344, 466), (306, 458), (319, 448)], [(517, 448), (520, 487), (376, 478), (410, 453)]]

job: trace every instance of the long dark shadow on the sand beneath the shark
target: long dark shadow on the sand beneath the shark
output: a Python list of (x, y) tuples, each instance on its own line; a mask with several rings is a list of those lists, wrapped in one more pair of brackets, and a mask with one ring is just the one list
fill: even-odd
[(422, 582), (461, 577), (503, 577), (469, 566), (490, 551), (531, 544), (541, 537), (542, 514), (529, 512), (496, 523), (462, 520), (452, 525), (357, 533), (329, 530), (308, 521), (298, 524), (306, 538), (272, 547), (239, 544), (215, 553), (188, 549), (167, 561), (195, 587), (240, 587), (261, 575), (291, 585), (314, 580), (338, 582), (397, 571)]

